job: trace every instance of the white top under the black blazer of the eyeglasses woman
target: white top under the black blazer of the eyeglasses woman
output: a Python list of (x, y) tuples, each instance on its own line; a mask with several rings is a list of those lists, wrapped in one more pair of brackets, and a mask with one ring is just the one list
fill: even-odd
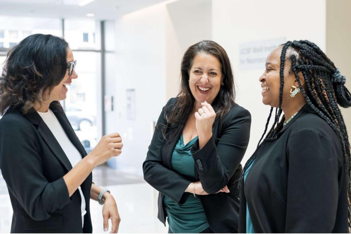
[[(82, 160), (82, 156), (77, 150), (77, 148), (74, 147), (71, 140), (69, 140), (67, 134), (65, 133), (64, 129), (62, 128), (55, 114), (50, 109), (48, 112), (39, 112), (39, 111), (37, 112), (44, 120), (46, 125), (49, 127), (50, 131), (55, 136), (56, 140), (59, 142), (69, 162), (71, 162), (72, 167), (77, 165), (77, 163), (80, 162), (80, 160)], [(84, 226), (84, 215), (87, 213), (85, 210), (85, 199), (80, 186), (78, 187), (78, 190), (82, 200), (81, 213), (82, 213), (82, 225)]]

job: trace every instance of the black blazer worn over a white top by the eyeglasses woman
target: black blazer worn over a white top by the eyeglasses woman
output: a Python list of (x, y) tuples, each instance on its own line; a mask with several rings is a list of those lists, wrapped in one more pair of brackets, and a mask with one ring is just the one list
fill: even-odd
[[(82, 157), (86, 156), (65, 113), (54, 114)], [(81, 184), (87, 211), (82, 228), (79, 190), (69, 197), (63, 179), (71, 163), (34, 109), (26, 115), (10, 109), (0, 119), (0, 168), (13, 208), (12, 233), (92, 232), (92, 174)]]

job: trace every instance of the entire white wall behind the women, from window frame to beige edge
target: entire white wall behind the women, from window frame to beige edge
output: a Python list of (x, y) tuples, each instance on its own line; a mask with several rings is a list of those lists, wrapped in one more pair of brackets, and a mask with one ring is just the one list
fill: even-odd
[[(304, 7), (301, 7), (304, 6)], [(313, 14), (311, 14), (313, 12)], [(313, 17), (312, 17), (313, 15)], [(166, 1), (116, 21), (116, 120), (108, 133), (124, 141), (117, 168), (142, 174), (158, 119), (179, 85), (180, 60), (186, 48), (212, 39), (229, 54), (236, 82), (236, 101), (251, 112), (251, 138), (243, 163), (251, 156), (270, 107), (261, 102), (261, 69), (239, 70), (239, 44), (275, 38), (307, 39), (326, 48), (326, 0), (178, 0)], [(126, 120), (126, 89), (135, 88), (136, 119)]]

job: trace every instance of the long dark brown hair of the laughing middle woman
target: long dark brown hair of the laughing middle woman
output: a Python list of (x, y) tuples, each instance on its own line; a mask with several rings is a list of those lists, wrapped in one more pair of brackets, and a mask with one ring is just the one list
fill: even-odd
[(177, 127), (175, 134), (167, 138), (167, 140), (172, 140), (183, 129), (186, 121), (194, 111), (195, 98), (192, 95), (189, 87), (189, 71), (193, 65), (194, 58), (198, 54), (202, 53), (215, 56), (221, 65), (223, 86), (220, 87), (219, 93), (212, 103), (212, 107), (216, 111), (216, 118), (221, 119), (225, 114), (229, 112), (230, 107), (234, 103), (234, 76), (229, 57), (223, 47), (214, 41), (208, 40), (200, 41), (190, 46), (185, 51), (183, 59), (181, 60), (181, 83), (179, 93), (177, 95), (177, 103), (175, 105), (168, 106), (168, 108), (172, 108), (169, 116), (167, 114), (168, 108), (164, 112), (166, 124), (162, 127), (163, 137), (166, 139), (166, 134), (172, 126)]

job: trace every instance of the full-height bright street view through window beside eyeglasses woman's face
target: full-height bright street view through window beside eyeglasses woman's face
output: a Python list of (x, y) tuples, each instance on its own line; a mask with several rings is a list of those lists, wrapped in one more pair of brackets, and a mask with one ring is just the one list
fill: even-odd
[(101, 114), (97, 108), (101, 95), (97, 88), (101, 86), (101, 52), (100, 45), (89, 40), (99, 31), (99, 24), (93, 19), (76, 18), (66, 19), (64, 27), (65, 40), (77, 60), (78, 74), (78, 79), (68, 87), (64, 105), (67, 118), (87, 152), (96, 146), (101, 131), (98, 128)]

